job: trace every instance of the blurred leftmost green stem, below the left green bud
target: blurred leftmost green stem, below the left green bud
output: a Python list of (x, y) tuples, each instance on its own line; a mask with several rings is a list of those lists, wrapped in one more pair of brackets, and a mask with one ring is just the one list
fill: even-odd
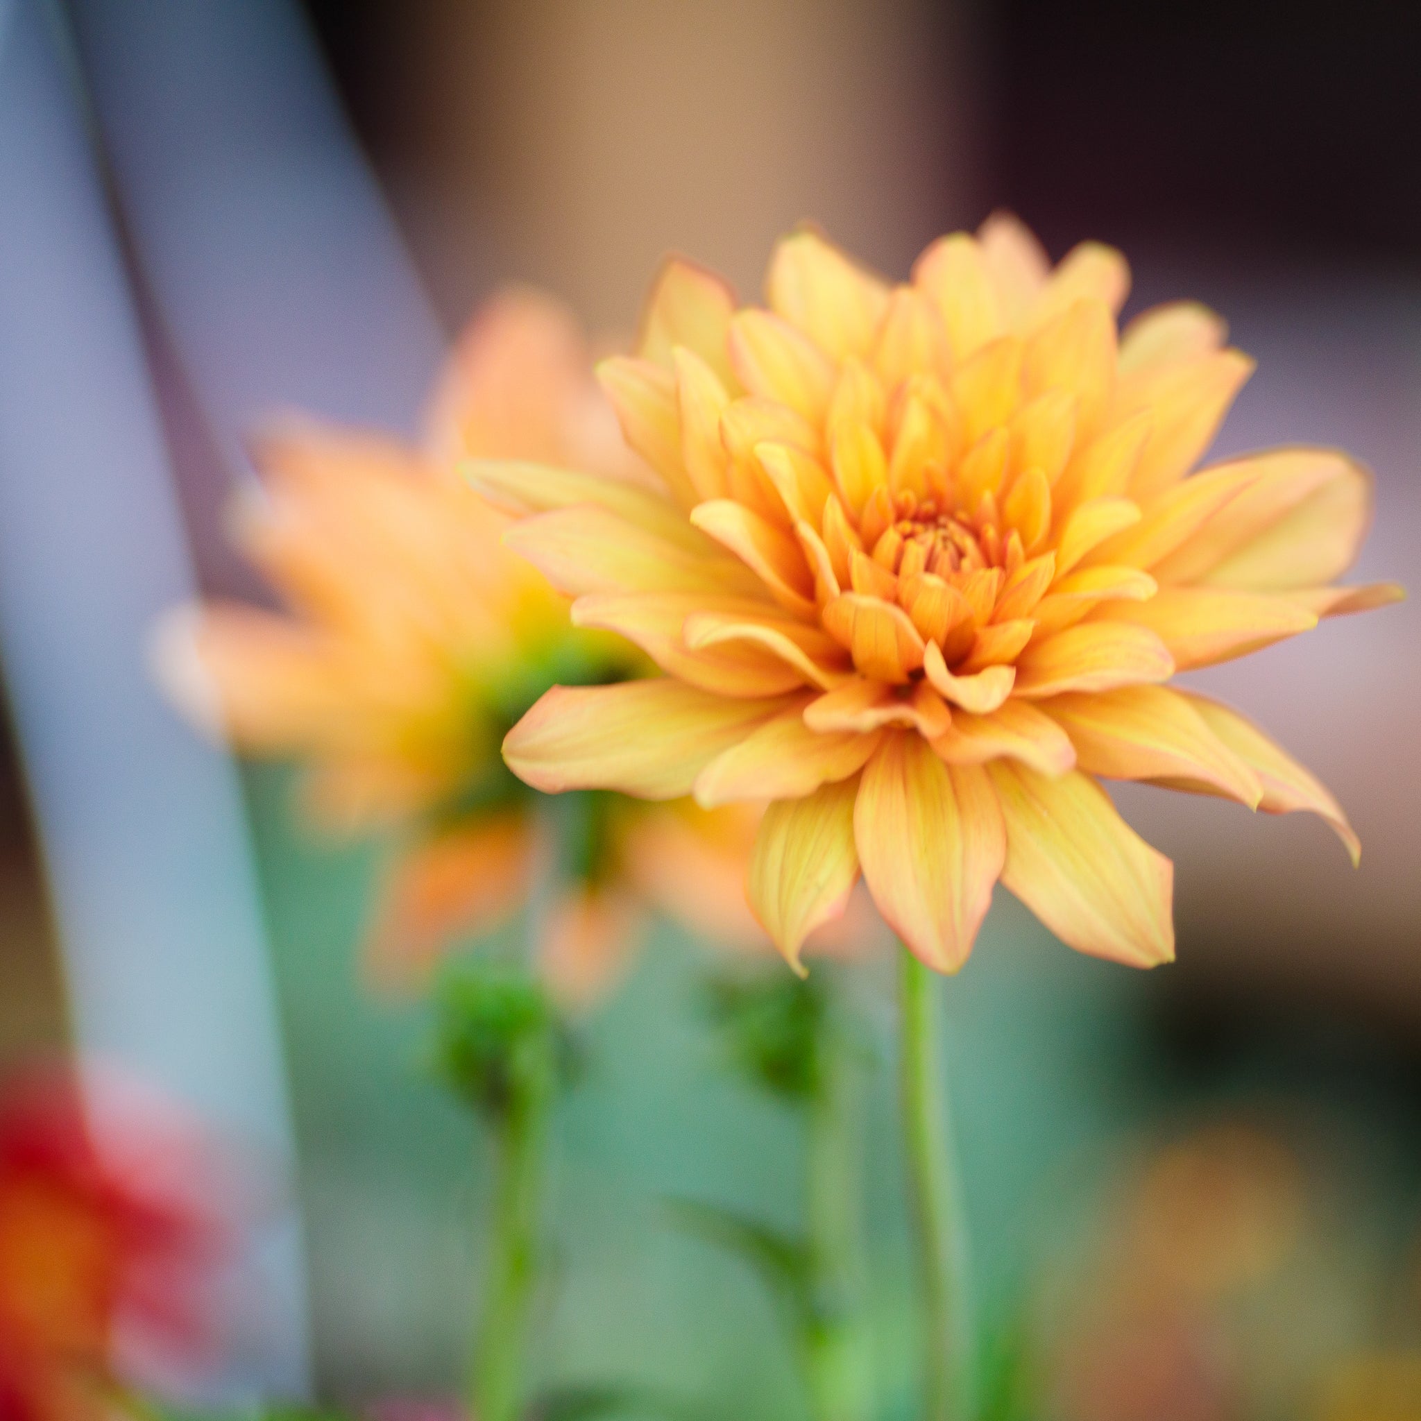
[(529, 1322), (540, 1255), (540, 1216), (554, 1060), (546, 1033), (520, 1043), (496, 1125), (497, 1177), (473, 1358), (477, 1421), (519, 1421), (524, 1408)]

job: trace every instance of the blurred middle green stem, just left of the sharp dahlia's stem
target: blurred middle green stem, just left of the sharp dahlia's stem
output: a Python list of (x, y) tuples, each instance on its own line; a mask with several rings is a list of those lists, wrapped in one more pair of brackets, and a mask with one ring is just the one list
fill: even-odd
[(871, 1395), (860, 1248), (864, 1083), (831, 1009), (820, 1023), (816, 1054), (806, 1150), (810, 1411), (814, 1421), (865, 1421)]

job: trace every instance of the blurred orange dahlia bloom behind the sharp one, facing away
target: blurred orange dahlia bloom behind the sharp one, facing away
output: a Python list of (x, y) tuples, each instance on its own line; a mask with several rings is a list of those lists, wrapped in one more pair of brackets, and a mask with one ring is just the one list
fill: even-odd
[[(527, 897), (543, 851), (537, 796), (499, 757), (507, 728), (554, 682), (647, 669), (621, 638), (570, 624), (567, 598), (502, 546), (509, 519), (455, 473), (483, 455), (576, 463), (628, 493), (652, 480), (591, 369), (560, 306), (510, 291), (453, 352), (419, 446), (308, 421), (271, 431), (233, 529), (290, 612), (209, 603), (159, 631), (159, 676), (193, 720), (250, 753), (303, 762), (317, 821), (399, 843), (369, 942), (387, 982), (418, 980), (450, 938)], [(568, 998), (621, 961), (644, 898), (684, 901), (658, 874), (665, 853), (632, 851), (648, 836), (723, 885), (712, 929), (757, 935), (737, 890), (755, 811), (648, 809), (590, 806), (584, 861), (541, 934), (551, 985)]]

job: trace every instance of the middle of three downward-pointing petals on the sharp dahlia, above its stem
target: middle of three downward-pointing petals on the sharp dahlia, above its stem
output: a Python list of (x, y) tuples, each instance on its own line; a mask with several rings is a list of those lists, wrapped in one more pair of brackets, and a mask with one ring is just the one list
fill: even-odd
[(944, 764), (918, 735), (890, 735), (864, 769), (854, 840), (888, 925), (928, 966), (956, 972), (1006, 858), (986, 772)]

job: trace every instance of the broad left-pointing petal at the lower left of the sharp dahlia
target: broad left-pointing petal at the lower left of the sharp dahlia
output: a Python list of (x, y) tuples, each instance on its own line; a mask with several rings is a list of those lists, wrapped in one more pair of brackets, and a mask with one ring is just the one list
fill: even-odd
[(608, 789), (678, 799), (722, 750), (783, 708), (783, 699), (718, 696), (669, 679), (553, 686), (507, 733), (503, 757), (546, 794)]

